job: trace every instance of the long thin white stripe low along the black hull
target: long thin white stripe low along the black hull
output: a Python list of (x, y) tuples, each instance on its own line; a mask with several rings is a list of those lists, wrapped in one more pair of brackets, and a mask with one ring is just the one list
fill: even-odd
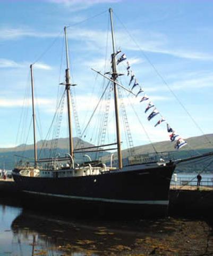
[(168, 200), (154, 200), (154, 201), (139, 201), (139, 200), (119, 200), (119, 199), (108, 199), (108, 198), (99, 198), (99, 197), (84, 197), (84, 196), (68, 196), (68, 195), (58, 195), (58, 194), (50, 194), (50, 193), (42, 193), (35, 191), (23, 190), (23, 192), (36, 194), (36, 195), (44, 195), (44, 196), (55, 196), (69, 199), (79, 199), (86, 201), (101, 201), (108, 203), (122, 203), (122, 204), (159, 204), (159, 205), (168, 205)]

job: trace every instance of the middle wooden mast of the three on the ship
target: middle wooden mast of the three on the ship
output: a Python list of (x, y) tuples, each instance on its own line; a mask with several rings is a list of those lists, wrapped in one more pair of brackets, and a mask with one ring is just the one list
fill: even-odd
[(70, 62), (69, 62), (69, 50), (68, 50), (68, 40), (66, 34), (66, 27), (64, 27), (65, 43), (66, 43), (66, 95), (67, 95), (67, 112), (68, 112), (68, 123), (69, 123), (69, 145), (70, 145), (70, 155), (73, 155), (73, 139), (72, 139), (72, 117), (71, 117), (71, 104), (70, 104)]

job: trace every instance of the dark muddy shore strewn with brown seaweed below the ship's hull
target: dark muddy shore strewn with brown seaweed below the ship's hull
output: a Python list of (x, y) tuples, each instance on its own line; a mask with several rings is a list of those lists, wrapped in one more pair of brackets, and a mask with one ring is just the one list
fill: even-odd
[[(135, 221), (56, 219), (22, 213), (12, 223), (16, 234), (38, 234), (51, 250), (80, 255), (213, 255), (212, 225), (206, 220), (166, 218)], [(36, 244), (35, 244), (36, 250)], [(39, 254), (40, 253), (40, 254)]]

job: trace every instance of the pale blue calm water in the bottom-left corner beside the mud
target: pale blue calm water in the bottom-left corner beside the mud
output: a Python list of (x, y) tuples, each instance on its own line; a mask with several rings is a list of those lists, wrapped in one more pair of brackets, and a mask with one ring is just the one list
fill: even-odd
[[(46, 225), (41, 227), (42, 220), (43, 222), (45, 220)], [(35, 213), (34, 215), (24, 213), (20, 207), (0, 204), (0, 256), (62, 255), (58, 248), (64, 245), (63, 238), (55, 236), (54, 230), (48, 236), (48, 225), (51, 228), (54, 226), (50, 225), (46, 217), (38, 218)], [(63, 230), (58, 229), (58, 234), (61, 231)], [(83, 256), (85, 254), (73, 252), (67, 255)]]

